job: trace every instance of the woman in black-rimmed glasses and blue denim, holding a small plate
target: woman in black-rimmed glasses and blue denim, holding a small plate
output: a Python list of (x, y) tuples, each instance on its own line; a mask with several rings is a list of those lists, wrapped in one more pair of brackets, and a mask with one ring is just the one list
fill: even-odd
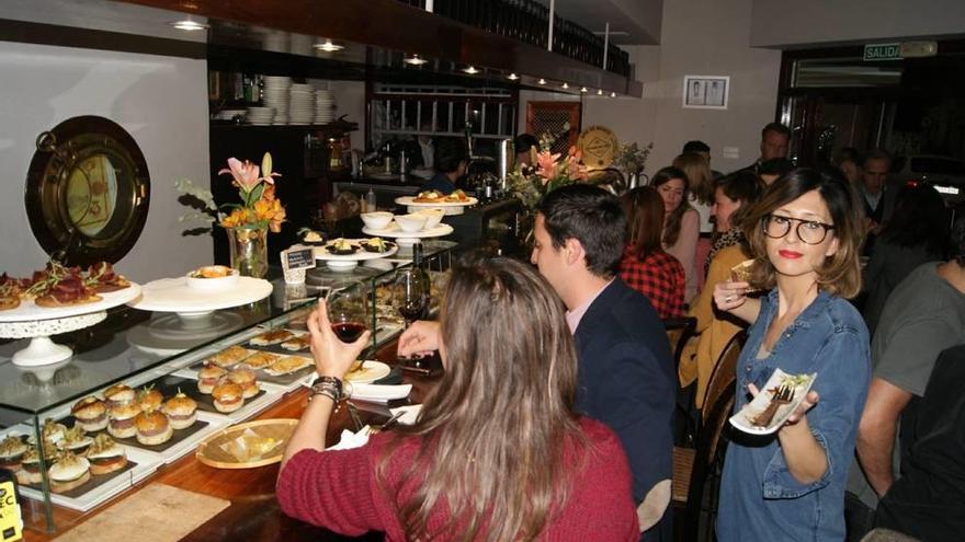
[[(861, 286), (861, 204), (840, 172), (799, 169), (768, 188), (747, 223), (749, 281), (714, 288), (719, 310), (751, 323), (734, 412), (770, 392), (775, 369), (817, 379), (776, 433), (731, 431), (717, 538), (840, 541), (871, 373), (867, 328), (847, 301)], [(767, 295), (749, 298), (749, 287)]]

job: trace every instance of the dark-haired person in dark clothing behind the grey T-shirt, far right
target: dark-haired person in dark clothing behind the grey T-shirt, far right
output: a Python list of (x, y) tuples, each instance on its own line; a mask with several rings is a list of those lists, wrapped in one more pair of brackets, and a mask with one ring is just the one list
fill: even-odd
[(867, 297), (862, 313), (874, 336), (885, 301), (912, 269), (944, 257), (949, 215), (942, 196), (924, 184), (898, 192), (892, 219), (882, 228), (862, 281)]

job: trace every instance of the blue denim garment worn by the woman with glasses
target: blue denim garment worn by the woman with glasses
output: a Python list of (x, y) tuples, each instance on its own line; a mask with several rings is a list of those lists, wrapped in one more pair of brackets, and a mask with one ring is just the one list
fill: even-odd
[(736, 429), (727, 448), (720, 487), (717, 538), (734, 540), (844, 539), (844, 484), (871, 377), (867, 328), (848, 301), (826, 292), (784, 330), (764, 358), (758, 358), (768, 326), (777, 313), (777, 291), (761, 310), (737, 365), (734, 412), (750, 400), (747, 384), (764, 388), (774, 369), (817, 372), (820, 401), (807, 413), (825, 449), (828, 470), (802, 484), (787, 470), (777, 435), (752, 437)]

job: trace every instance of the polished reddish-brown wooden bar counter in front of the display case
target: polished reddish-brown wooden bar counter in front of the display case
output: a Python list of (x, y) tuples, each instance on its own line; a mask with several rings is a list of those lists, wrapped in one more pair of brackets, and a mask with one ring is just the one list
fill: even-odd
[[(397, 362), (395, 349), (396, 342), (393, 341), (379, 349), (375, 357), (389, 365), (395, 365)], [(417, 404), (421, 403), (425, 394), (438, 384), (439, 377), (427, 378), (404, 372), (404, 381), (405, 383), (412, 384), (409, 400), (411, 403)], [(307, 404), (307, 390), (296, 390), (252, 419), (298, 418)], [(385, 422), (384, 416), (364, 408), (359, 408), (359, 413), (363, 423), (379, 424)], [(329, 446), (336, 443), (341, 430), (350, 428), (351, 425), (348, 408), (340, 408), (333, 415), (332, 422), (329, 425), (326, 442)], [(145, 481), (90, 512), (80, 514), (66, 508), (55, 507), (54, 520), (57, 524), (57, 532), (48, 535), (29, 530), (24, 532), (24, 540), (29, 542), (53, 540), (71, 527), (80, 524), (98, 514), (111, 514), (111, 505), (123, 500), (139, 488), (152, 483), (168, 484), (181, 489), (223, 498), (231, 503), (231, 506), (182, 539), (184, 541), (383, 540), (381, 532), (372, 532), (360, 538), (350, 538), (288, 518), (282, 514), (275, 499), (275, 478), (277, 474), (279, 463), (257, 469), (215, 469), (197, 461), (192, 452), (169, 465), (160, 468)], [(23, 499), (23, 504), (27, 507), (31, 507), (32, 503), (32, 500)], [(39, 510), (39, 507), (36, 507), (36, 509)], [(37, 514), (43, 512), (37, 511)], [(172, 520), (177, 519), (172, 518)], [(149, 539), (147, 537), (145, 540)]]

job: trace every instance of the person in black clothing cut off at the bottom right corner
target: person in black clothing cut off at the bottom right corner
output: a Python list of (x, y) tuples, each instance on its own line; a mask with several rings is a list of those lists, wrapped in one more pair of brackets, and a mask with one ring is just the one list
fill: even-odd
[(878, 504), (875, 526), (929, 542), (965, 533), (965, 345), (943, 351), (919, 405), (918, 436), (901, 459), (901, 477)]

